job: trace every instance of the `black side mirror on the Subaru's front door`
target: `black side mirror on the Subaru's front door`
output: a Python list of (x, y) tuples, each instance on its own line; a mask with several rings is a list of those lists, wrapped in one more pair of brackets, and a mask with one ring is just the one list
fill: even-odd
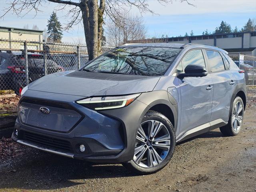
[(204, 77), (208, 74), (206, 68), (201, 65), (188, 65), (185, 68), (185, 73), (178, 74), (178, 78), (184, 77)]

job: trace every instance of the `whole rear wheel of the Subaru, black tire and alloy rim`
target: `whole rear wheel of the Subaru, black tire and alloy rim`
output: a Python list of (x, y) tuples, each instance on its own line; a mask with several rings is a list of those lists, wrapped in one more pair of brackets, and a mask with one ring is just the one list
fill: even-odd
[(220, 127), (220, 132), (222, 132), (224, 136), (236, 136), (242, 128), (243, 119), (244, 103), (242, 98), (237, 96), (232, 104), (228, 124)]

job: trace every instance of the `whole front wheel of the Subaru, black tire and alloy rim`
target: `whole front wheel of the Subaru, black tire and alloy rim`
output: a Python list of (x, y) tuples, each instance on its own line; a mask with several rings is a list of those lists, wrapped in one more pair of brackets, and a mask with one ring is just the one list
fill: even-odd
[(172, 123), (159, 112), (148, 111), (136, 134), (134, 158), (123, 166), (138, 174), (164, 168), (174, 153), (176, 136)]

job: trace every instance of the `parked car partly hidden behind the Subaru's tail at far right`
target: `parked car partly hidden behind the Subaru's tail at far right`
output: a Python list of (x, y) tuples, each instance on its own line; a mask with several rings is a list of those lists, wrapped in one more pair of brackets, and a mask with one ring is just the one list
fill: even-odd
[(254, 83), (256, 83), (256, 68), (253, 68), (251, 65), (246, 63), (239, 64), (239, 61), (234, 62), (241, 70), (244, 70), (246, 85), (252, 84), (253, 81)]

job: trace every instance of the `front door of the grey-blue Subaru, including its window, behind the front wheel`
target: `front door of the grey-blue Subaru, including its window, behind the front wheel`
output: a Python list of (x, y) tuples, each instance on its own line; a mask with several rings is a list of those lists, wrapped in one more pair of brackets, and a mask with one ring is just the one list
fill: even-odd
[[(186, 66), (190, 64), (206, 66), (201, 49), (188, 51), (178, 64), (176, 73), (184, 72)], [(198, 131), (204, 132), (204, 130), (208, 131), (206, 128), (209, 127), (213, 98), (211, 75), (208, 74), (204, 77), (185, 77), (179, 81), (181, 93), (179, 135), (184, 138), (187, 134), (194, 134)]]

